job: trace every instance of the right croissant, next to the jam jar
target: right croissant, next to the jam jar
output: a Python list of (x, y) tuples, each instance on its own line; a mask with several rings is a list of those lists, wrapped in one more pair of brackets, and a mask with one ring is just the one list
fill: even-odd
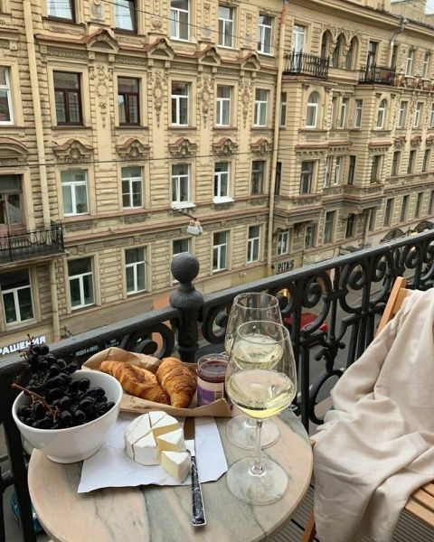
[(176, 358), (164, 358), (156, 371), (156, 379), (176, 408), (187, 408), (196, 391), (196, 377)]

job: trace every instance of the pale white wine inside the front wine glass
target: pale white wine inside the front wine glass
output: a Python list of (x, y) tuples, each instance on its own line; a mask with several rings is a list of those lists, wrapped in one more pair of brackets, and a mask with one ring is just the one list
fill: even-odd
[(248, 369), (226, 378), (226, 391), (232, 402), (248, 416), (269, 418), (290, 405), (296, 395), (287, 375), (269, 369)]

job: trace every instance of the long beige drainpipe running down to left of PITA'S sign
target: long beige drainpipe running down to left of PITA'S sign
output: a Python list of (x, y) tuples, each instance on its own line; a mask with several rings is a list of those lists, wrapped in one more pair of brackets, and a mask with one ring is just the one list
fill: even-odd
[(285, 43), (285, 33), (287, 29), (288, 0), (283, 0), (282, 13), (280, 15), (280, 33), (278, 37), (278, 80), (276, 84), (276, 95), (274, 103), (276, 109), (274, 112), (274, 135), (273, 135), (273, 154), (271, 161), (271, 179), (269, 182), (269, 223), (267, 235), (267, 268), (271, 275), (271, 259), (273, 254), (273, 225), (274, 225), (274, 191), (276, 189), (276, 170), (278, 164), (278, 136), (280, 126), (280, 94), (282, 91), (282, 76), (285, 66), (283, 45)]

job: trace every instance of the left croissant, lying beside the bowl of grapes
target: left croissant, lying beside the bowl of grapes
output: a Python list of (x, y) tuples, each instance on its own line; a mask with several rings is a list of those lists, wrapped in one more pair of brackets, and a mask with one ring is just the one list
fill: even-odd
[(103, 361), (99, 370), (115, 377), (122, 389), (135, 397), (169, 405), (169, 397), (150, 370), (122, 361)]

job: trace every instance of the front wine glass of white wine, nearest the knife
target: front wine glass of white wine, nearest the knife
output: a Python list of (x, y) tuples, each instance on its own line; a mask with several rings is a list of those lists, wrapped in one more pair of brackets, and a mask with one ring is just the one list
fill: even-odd
[(287, 491), (288, 475), (278, 463), (261, 459), (260, 436), (263, 420), (279, 414), (296, 396), (296, 362), (287, 328), (267, 321), (241, 324), (232, 343), (226, 392), (256, 420), (255, 457), (233, 463), (228, 488), (249, 504), (276, 502)]

